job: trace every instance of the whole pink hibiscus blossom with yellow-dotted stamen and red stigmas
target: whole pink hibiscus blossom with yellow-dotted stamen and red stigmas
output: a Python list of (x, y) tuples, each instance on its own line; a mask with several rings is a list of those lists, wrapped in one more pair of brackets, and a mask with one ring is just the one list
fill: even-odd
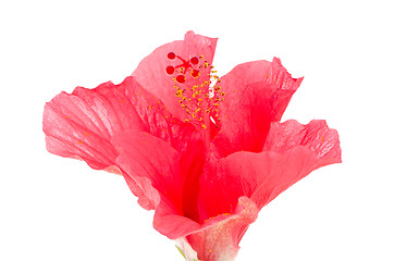
[(234, 260), (263, 206), (341, 162), (324, 121), (280, 122), (303, 78), (276, 58), (218, 77), (216, 45), (188, 32), (123, 83), (61, 92), (44, 112), (48, 151), (123, 175), (187, 260)]

